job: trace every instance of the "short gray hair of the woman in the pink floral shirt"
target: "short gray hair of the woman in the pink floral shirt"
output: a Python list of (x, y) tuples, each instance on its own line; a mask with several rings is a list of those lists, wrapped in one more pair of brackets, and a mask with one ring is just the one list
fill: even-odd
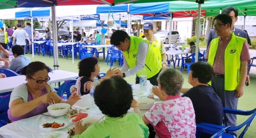
[(158, 75), (157, 82), (161, 84), (167, 95), (175, 96), (180, 94), (184, 78), (180, 71), (173, 68), (165, 68)]

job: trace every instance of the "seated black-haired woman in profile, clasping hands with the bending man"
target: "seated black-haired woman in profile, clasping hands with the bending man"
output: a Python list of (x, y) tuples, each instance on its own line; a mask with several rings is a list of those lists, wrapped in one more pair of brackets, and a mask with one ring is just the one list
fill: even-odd
[(89, 57), (81, 60), (78, 63), (78, 69), (79, 69), (79, 78), (76, 80), (75, 85), (75, 91), (80, 96), (89, 94), (91, 90), (91, 83), (94, 82), (94, 78), (98, 78), (99, 82), (102, 82), (105, 79), (108, 79), (112, 76), (114, 76), (118, 70), (115, 70), (116, 68), (109, 68), (109, 70), (106, 73), (106, 76), (101, 78), (99, 76), (99, 63), (98, 59), (95, 57)]

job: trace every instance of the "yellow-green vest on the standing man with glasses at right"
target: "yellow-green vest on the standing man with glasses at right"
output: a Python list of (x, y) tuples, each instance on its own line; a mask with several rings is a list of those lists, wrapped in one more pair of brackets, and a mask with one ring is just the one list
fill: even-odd
[[(225, 90), (236, 90), (240, 81), (240, 55), (245, 39), (231, 32), (231, 40), (226, 47), (224, 56)], [(211, 41), (208, 63), (213, 66), (214, 58), (219, 44), (219, 37)]]

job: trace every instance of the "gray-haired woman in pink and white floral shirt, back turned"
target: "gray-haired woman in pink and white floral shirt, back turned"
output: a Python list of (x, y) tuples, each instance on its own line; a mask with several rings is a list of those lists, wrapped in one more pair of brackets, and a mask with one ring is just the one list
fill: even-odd
[[(145, 124), (154, 126), (155, 138), (195, 138), (196, 121), (193, 104), (188, 97), (181, 97), (184, 79), (175, 69), (165, 68), (158, 78), (158, 88), (153, 93), (163, 102), (155, 105), (142, 115)], [(134, 112), (141, 115), (138, 103), (133, 100)]]

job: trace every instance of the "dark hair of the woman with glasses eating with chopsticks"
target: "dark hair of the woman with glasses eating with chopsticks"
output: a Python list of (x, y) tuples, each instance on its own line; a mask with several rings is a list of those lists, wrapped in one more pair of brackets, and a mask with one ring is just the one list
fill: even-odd
[(51, 72), (50, 68), (46, 66), (45, 63), (36, 61), (36, 62), (31, 62), (29, 63), (29, 65), (24, 67), (21, 74), (26, 76), (33, 76), (35, 75), (36, 72), (41, 70), (47, 70), (48, 72)]

